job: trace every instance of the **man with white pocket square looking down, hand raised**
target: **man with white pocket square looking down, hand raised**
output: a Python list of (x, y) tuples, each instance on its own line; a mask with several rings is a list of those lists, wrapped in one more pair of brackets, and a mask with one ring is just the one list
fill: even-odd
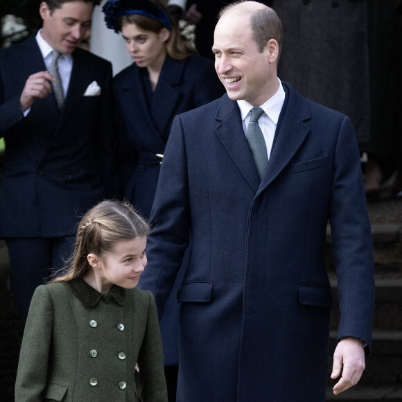
[(112, 170), (112, 67), (77, 48), (96, 4), (43, 1), (36, 37), (0, 53), (0, 237), (22, 317), (69, 257), (78, 217), (103, 197)]

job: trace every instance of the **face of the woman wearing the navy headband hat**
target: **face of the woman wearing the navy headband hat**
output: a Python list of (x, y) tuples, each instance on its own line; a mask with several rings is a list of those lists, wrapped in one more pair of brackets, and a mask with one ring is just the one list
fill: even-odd
[(121, 27), (128, 53), (138, 67), (160, 70), (166, 58), (165, 42), (169, 31), (162, 28), (159, 33), (143, 30), (137, 24), (125, 24)]

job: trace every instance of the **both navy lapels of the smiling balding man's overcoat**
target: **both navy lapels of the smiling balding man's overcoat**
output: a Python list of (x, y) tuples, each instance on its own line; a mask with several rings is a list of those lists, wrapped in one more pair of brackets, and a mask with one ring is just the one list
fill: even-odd
[(259, 195), (288, 165), (310, 130), (306, 124), (306, 121), (310, 119), (306, 100), (286, 82), (282, 84), (286, 91), (286, 99), (279, 116), (267, 172), (262, 180), (259, 179), (252, 152), (243, 131), (236, 101), (230, 100), (225, 94), (220, 98), (216, 112), (218, 124), (216, 134), (256, 195)]

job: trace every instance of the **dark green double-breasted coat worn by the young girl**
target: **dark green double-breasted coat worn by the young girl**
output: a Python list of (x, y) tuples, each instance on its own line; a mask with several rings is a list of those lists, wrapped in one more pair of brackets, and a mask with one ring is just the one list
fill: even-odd
[(155, 299), (82, 279), (35, 290), (21, 346), (15, 401), (166, 402)]

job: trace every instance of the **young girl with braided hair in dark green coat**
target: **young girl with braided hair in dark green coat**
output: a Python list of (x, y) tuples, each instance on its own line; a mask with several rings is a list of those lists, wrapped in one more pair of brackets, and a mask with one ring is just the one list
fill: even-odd
[(155, 299), (135, 288), (148, 231), (130, 204), (85, 214), (69, 270), (33, 295), (15, 401), (167, 401)]

